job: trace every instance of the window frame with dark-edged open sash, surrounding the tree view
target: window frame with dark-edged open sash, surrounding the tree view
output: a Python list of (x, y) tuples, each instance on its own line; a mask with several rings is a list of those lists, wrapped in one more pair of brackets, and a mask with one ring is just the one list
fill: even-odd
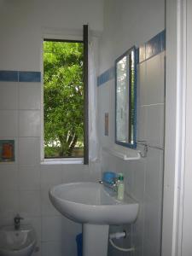
[[(84, 157), (73, 158), (44, 158), (44, 41), (83, 43), (84, 44)], [(42, 60), (41, 60), (41, 164), (89, 164), (89, 92), (88, 92), (88, 25), (84, 25), (82, 36), (58, 36), (54, 34), (45, 34), (42, 38)]]

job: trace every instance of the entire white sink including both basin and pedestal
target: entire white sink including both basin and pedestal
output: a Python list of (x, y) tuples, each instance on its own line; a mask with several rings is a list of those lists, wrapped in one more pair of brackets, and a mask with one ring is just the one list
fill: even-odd
[(125, 195), (118, 201), (101, 183), (64, 183), (49, 189), (49, 199), (62, 215), (83, 224), (83, 256), (107, 256), (109, 224), (136, 220), (138, 204)]

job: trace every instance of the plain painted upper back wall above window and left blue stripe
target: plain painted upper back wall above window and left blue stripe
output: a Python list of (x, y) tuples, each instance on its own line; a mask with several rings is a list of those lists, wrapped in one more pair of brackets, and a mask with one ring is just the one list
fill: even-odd
[(0, 70), (40, 70), (45, 28), (102, 31), (103, 0), (9, 0), (0, 9)]

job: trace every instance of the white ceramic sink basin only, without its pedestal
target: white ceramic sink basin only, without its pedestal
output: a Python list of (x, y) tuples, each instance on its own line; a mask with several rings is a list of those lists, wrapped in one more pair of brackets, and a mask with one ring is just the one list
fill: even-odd
[(130, 224), (137, 218), (136, 201), (118, 201), (100, 183), (63, 183), (49, 189), (49, 198), (61, 214), (82, 224)]

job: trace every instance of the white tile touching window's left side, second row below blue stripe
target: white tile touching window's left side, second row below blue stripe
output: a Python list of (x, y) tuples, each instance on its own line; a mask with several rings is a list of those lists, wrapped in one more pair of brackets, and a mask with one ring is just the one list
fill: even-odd
[(20, 137), (40, 137), (40, 111), (22, 110), (19, 112), (19, 136)]

